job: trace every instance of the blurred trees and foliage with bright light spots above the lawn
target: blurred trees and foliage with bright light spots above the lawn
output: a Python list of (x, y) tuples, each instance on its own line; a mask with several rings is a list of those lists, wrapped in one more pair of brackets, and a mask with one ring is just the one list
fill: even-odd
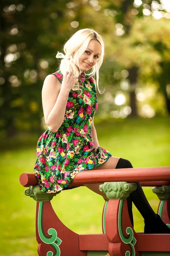
[(106, 90), (98, 93), (96, 116), (170, 113), (170, 9), (164, 0), (5, 0), (0, 6), (1, 135), (43, 130), (43, 81), (58, 69), (57, 51), (86, 27), (105, 40), (100, 84)]

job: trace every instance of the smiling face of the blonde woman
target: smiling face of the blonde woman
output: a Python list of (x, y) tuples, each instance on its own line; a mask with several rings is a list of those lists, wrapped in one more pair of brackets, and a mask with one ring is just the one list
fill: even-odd
[(102, 47), (101, 44), (91, 39), (85, 52), (80, 56), (79, 67), (81, 71), (87, 72), (90, 70), (96, 62), (99, 60), (101, 55)]

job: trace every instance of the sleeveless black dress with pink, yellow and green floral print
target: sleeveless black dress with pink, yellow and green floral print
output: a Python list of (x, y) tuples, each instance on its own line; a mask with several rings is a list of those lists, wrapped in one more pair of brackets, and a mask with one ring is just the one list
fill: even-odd
[[(60, 70), (53, 73), (62, 82)], [(98, 102), (92, 77), (84, 72), (78, 77), (83, 87), (70, 90), (62, 125), (57, 132), (47, 129), (37, 142), (37, 160), (34, 166), (42, 192), (55, 193), (67, 189), (77, 173), (101, 165), (111, 157), (102, 147), (95, 148), (91, 136)]]

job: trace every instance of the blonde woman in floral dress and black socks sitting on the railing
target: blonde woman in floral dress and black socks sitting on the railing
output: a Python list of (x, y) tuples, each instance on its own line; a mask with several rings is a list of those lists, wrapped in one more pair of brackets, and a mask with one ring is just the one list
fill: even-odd
[[(104, 57), (102, 36), (93, 29), (80, 29), (65, 43), (63, 50), (65, 55), (58, 52), (56, 56), (62, 58), (59, 70), (48, 75), (42, 87), (48, 129), (38, 140), (34, 170), (40, 190), (47, 193), (67, 189), (81, 171), (133, 168), (128, 160), (113, 157), (100, 147), (97, 140), (94, 114), (98, 106), (99, 68)], [(144, 218), (145, 233), (170, 233), (150, 207), (140, 183), (136, 184), (136, 191), (127, 198), (132, 224), (133, 201)], [(85, 186), (106, 197), (99, 191), (99, 184)]]

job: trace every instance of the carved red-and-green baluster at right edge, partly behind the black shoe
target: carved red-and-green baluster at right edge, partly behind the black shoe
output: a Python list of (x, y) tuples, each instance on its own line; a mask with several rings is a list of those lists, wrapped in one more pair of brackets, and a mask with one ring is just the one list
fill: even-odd
[(170, 227), (170, 186), (154, 187), (152, 191), (160, 200), (157, 213)]

